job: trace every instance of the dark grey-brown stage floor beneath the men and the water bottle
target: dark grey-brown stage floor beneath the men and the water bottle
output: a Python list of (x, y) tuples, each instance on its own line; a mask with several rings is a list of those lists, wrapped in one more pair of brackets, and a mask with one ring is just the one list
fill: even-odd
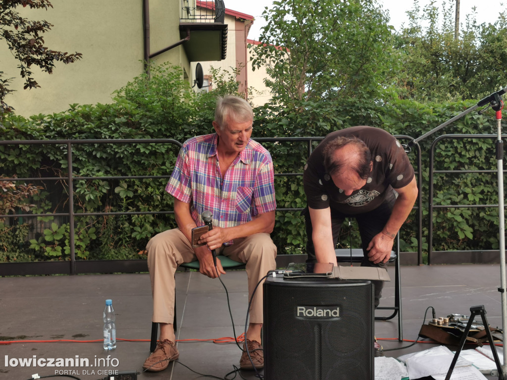
[[(394, 277), (393, 268), (389, 268), (389, 274)], [(386, 351), (386, 356), (399, 357), (438, 346), (417, 343), (405, 348), (417, 338), (428, 307), (433, 307), (438, 317), (445, 317), (470, 315), (470, 307), (484, 305), (490, 325), (501, 328), (501, 299), (497, 290), (500, 265), (403, 266), (401, 278), (405, 341), (397, 339), (396, 318), (375, 321), (375, 335), (384, 349), (399, 349)], [(245, 325), (246, 274), (229, 271), (222, 279), (228, 289), (238, 336)], [(139, 373), (137, 378), (205, 378), (200, 374), (225, 378), (234, 366), (239, 367), (241, 353), (234, 343), (216, 343), (234, 335), (222, 284), (196, 272), (178, 272), (176, 288), (179, 363), (162, 372)], [(142, 371), (144, 359), (149, 355), (151, 332), (148, 274), (9, 277), (0, 279), (0, 289), (0, 379), (26, 380), (35, 373), (43, 377), (63, 370), (21, 366), (20, 359), (87, 359), (88, 367), (65, 368), (73, 371), (68, 374), (83, 380), (104, 378), (107, 371)], [(117, 315), (119, 340), (112, 352), (104, 352), (100, 341), (106, 298), (113, 299)], [(393, 303), (394, 282), (389, 282), (384, 287), (381, 306)], [(430, 317), (428, 312), (427, 318)], [(350, 339), (353, 344), (353, 336)], [(255, 372), (240, 374), (245, 379), (256, 378)]]

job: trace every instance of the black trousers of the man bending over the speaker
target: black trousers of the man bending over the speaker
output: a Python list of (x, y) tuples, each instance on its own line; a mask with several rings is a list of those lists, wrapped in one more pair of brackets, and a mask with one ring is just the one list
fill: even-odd
[[(387, 223), (387, 220), (391, 216), (392, 207), (395, 200), (396, 199), (394, 197), (389, 197), (389, 199), (386, 199), (384, 203), (382, 203), (375, 210), (365, 212), (364, 214), (347, 215), (331, 209), (331, 230), (333, 234), (333, 246), (336, 247), (336, 244), (338, 242), (338, 235), (340, 234), (340, 229), (345, 218), (354, 218), (359, 226), (361, 245), (363, 246), (362, 248), (365, 255), (361, 261), (361, 267), (387, 268), (387, 263), (379, 262), (378, 264), (374, 264), (373, 261), (370, 261), (368, 259), (369, 251), (367, 250), (367, 247), (373, 237), (380, 233)], [(308, 212), (308, 207), (305, 209), (304, 215), (307, 236), (306, 253), (308, 254), (308, 259), (306, 261), (316, 262), (317, 259), (315, 257), (315, 248), (313, 247), (312, 240), (313, 229), (312, 223), (310, 221), (310, 213)], [(380, 297), (382, 296), (384, 281), (373, 280), (372, 283), (375, 286), (375, 308), (377, 308), (377, 306), (379, 306)]]

